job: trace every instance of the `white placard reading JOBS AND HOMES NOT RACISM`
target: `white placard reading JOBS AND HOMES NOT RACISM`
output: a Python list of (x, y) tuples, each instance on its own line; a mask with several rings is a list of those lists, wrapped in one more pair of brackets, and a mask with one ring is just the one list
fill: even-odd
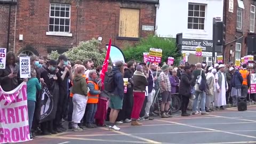
[(30, 58), (20, 57), (20, 78), (30, 77)]

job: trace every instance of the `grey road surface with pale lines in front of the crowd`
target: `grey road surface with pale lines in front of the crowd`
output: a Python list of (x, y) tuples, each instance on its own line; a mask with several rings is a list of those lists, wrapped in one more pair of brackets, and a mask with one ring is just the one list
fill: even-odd
[(191, 115), (156, 118), (143, 121), (142, 126), (118, 125), (121, 131), (107, 127), (85, 129), (82, 132), (65, 132), (39, 136), (22, 144), (84, 144), (84, 143), (256, 143), (256, 106), (247, 111), (237, 108), (213, 111), (210, 115)]

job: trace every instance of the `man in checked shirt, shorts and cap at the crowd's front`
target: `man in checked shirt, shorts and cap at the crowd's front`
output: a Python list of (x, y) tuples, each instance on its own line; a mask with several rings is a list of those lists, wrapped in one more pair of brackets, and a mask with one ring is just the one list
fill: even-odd
[(171, 97), (171, 83), (169, 80), (169, 66), (164, 65), (162, 67), (162, 72), (159, 75), (159, 87), (160, 87), (160, 92), (162, 95), (162, 103), (161, 103), (161, 117), (162, 118), (168, 118), (172, 117), (171, 115), (168, 114), (168, 111), (170, 109), (170, 105), (172, 102), (172, 97)]

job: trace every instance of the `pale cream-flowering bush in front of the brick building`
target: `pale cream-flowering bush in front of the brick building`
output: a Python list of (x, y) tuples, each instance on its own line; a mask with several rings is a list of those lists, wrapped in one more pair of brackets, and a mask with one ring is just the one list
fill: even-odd
[[(101, 42), (93, 38), (90, 41), (80, 42), (76, 47), (63, 53), (70, 61), (92, 59), (94, 66), (102, 65), (106, 57), (106, 49), (101, 49)], [(50, 54), (51, 59), (58, 59), (59, 53), (52, 51)]]

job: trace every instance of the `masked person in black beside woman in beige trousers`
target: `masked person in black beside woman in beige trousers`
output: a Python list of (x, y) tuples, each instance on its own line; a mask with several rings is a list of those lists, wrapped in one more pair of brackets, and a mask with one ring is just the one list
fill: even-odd
[(65, 55), (60, 55), (58, 61), (58, 73), (61, 76), (59, 81), (60, 97), (58, 101), (56, 117), (54, 120), (54, 130), (57, 132), (63, 132), (67, 130), (61, 125), (61, 120), (68, 100), (68, 78), (72, 81), (73, 76), (71, 73), (71, 66), (68, 65), (68, 58)]

